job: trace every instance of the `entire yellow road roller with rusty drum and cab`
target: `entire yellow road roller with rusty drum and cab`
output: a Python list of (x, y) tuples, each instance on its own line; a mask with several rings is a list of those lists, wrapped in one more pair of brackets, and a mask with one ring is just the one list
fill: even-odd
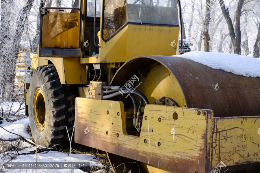
[(40, 11), (24, 91), (37, 144), (68, 143), (67, 128), (117, 173), (259, 172), (260, 78), (171, 57), (179, 0), (71, 6)]

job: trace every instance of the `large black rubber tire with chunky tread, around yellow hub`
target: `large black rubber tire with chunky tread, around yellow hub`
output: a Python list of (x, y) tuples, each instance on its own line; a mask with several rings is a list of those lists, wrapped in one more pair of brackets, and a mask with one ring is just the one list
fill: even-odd
[[(36, 125), (33, 106), (35, 93), (39, 88), (42, 89), (45, 97), (46, 121), (43, 130)], [(60, 83), (54, 65), (43, 65), (35, 69), (29, 87), (28, 105), (31, 133), (37, 144), (49, 147), (54, 144), (69, 143), (65, 126), (71, 137), (75, 119), (75, 98), (75, 88)]]

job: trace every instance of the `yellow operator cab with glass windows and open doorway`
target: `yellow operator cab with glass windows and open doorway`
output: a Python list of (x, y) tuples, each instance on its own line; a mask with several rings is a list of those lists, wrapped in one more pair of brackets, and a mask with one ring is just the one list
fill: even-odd
[(176, 54), (166, 45), (179, 40), (177, 0), (51, 2), (42, 4), (39, 57), (125, 62), (141, 54)]

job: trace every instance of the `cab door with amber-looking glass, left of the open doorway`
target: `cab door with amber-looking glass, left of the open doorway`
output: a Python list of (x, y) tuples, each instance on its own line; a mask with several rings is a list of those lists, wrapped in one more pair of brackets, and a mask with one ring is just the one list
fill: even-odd
[(46, 1), (40, 13), (39, 57), (81, 57), (81, 1)]

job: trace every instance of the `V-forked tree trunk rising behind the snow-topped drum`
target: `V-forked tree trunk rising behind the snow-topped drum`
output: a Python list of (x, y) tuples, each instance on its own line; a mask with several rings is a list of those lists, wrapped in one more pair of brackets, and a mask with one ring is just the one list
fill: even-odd
[(229, 15), (229, 8), (226, 7), (223, 0), (219, 0), (220, 7), (222, 10), (222, 14), (226, 19), (226, 23), (229, 29), (229, 35), (231, 38), (231, 42), (234, 48), (234, 54), (241, 54), (241, 31), (240, 31), (240, 17), (241, 17), (241, 9), (244, 3), (244, 0), (239, 0), (237, 4), (236, 17), (235, 17), (235, 29), (232, 23), (232, 20)]

